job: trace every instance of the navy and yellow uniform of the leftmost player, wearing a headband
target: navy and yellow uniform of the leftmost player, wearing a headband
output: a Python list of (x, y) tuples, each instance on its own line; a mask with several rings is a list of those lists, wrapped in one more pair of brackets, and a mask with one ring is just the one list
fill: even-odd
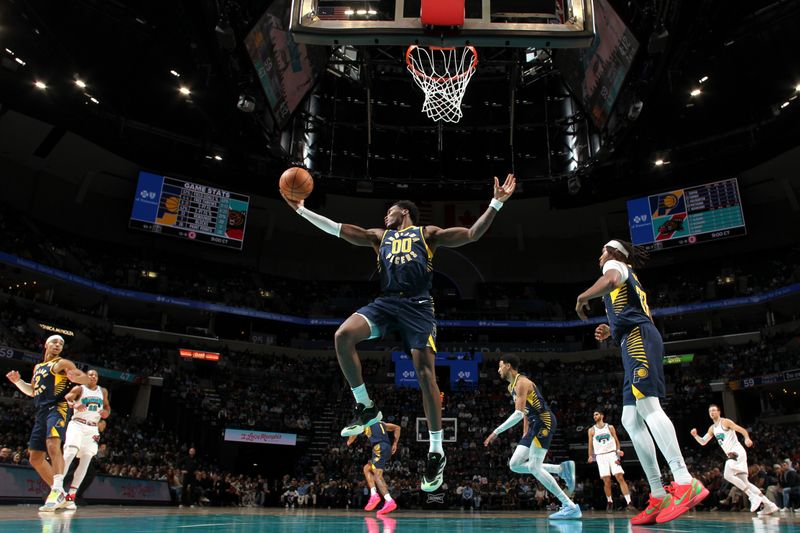
[(55, 357), (33, 367), (33, 403), (36, 406), (33, 430), (28, 448), (47, 451), (47, 439), (64, 438), (67, 426), (67, 402), (69, 380), (66, 376), (53, 373), (53, 367), (61, 361)]

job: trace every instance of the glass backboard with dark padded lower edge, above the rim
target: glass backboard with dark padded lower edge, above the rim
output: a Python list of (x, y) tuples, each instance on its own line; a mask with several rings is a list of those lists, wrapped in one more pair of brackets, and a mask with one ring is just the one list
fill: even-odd
[(425, 27), (422, 0), (293, 0), (297, 42), (322, 45), (583, 48), (592, 0), (464, 0), (464, 23)]

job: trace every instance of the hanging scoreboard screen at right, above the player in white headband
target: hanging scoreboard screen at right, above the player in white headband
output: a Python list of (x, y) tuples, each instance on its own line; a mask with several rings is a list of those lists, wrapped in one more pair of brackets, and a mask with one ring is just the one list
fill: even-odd
[(629, 200), (628, 225), (648, 251), (747, 234), (736, 178)]

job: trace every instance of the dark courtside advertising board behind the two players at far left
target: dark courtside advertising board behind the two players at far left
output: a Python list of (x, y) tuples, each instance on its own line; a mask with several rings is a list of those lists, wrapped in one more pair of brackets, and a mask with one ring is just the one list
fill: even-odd
[[(50, 491), (27, 466), (0, 465), (0, 499), (41, 501)], [(169, 503), (166, 481), (98, 475), (84, 498), (96, 502)]]

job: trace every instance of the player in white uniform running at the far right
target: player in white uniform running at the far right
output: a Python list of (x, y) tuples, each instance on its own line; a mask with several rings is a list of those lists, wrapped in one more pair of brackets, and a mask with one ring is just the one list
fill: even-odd
[(728, 460), (725, 461), (723, 477), (731, 485), (747, 494), (750, 499), (750, 512), (757, 511), (762, 503), (764, 504), (764, 510), (761, 514), (768, 515), (777, 511), (778, 506), (769, 501), (766, 496), (761, 494), (761, 489), (747, 479), (747, 452), (739, 442), (739, 439), (736, 438), (736, 433), (741, 433), (744, 436), (744, 444), (748, 448), (753, 446), (750, 434), (733, 420), (722, 418), (719, 406), (713, 403), (708, 407), (708, 416), (711, 417), (713, 424), (703, 437), (697, 434), (697, 429), (692, 428), (691, 433), (694, 439), (703, 446), (708, 444), (711, 439), (716, 439), (720, 447), (722, 447), (722, 451), (728, 456)]

